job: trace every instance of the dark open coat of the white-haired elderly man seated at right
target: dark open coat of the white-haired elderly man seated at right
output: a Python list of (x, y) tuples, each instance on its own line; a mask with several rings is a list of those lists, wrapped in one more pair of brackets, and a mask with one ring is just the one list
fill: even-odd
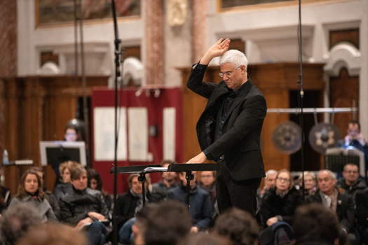
[[(306, 199), (306, 203), (311, 202), (322, 204), (322, 196), (320, 194), (320, 190), (318, 190), (314, 195), (310, 195)], [(353, 229), (355, 223), (354, 203), (353, 198), (350, 197), (350, 195), (346, 195), (343, 193), (339, 193), (337, 195), (336, 215), (342, 227), (347, 232), (350, 232)]]

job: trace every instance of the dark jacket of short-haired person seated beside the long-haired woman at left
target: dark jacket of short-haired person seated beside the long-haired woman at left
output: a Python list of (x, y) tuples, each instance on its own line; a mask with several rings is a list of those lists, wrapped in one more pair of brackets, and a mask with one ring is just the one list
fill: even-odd
[(88, 212), (94, 211), (109, 218), (109, 211), (100, 191), (87, 188), (86, 190), (71, 189), (60, 198), (60, 221), (77, 225), (83, 218), (88, 217)]

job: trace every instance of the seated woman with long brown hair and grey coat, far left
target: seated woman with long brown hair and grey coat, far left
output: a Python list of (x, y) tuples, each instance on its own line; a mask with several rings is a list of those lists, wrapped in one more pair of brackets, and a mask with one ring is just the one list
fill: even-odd
[(42, 217), (42, 221), (57, 221), (50, 204), (42, 190), (40, 176), (32, 169), (28, 169), (20, 179), (17, 195), (11, 200), (9, 207), (20, 202), (33, 205)]

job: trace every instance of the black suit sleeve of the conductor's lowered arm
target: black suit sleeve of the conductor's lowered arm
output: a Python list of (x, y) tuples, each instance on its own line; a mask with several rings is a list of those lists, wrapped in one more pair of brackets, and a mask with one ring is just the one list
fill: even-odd
[(248, 134), (259, 128), (265, 116), (266, 100), (264, 97), (257, 95), (248, 98), (233, 126), (205, 149), (207, 153), (210, 153), (208, 155), (214, 158), (210, 160), (215, 160), (238, 146)]

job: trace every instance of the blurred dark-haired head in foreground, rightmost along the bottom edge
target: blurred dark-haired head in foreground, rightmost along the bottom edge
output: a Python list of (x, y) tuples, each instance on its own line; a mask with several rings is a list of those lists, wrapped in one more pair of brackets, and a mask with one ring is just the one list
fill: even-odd
[(336, 215), (321, 204), (298, 207), (292, 228), (298, 245), (333, 245), (339, 237), (339, 221)]

